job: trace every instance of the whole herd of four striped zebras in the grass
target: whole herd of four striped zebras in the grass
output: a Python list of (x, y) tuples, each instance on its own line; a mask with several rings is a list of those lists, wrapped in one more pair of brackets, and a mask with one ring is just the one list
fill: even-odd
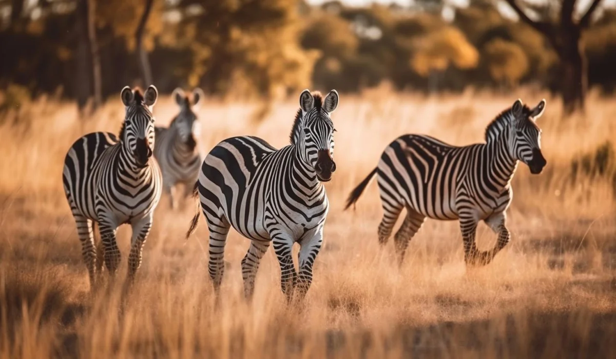
[[(161, 193), (176, 208), (175, 187), (184, 184), (184, 197), (192, 192), (198, 198), (186, 237), (197, 228), (203, 213), (209, 231), (208, 270), (216, 292), (225, 268), (227, 235), (233, 227), (251, 240), (241, 260), (245, 296), (252, 296), (259, 262), (273, 243), (283, 293), (288, 300), (302, 299), (312, 283), (329, 210), (323, 182), (336, 171), (336, 129), (330, 115), (338, 107), (338, 92), (332, 90), (325, 97), (309, 90), (300, 94), (291, 143), (286, 147), (277, 150), (249, 135), (231, 137), (205, 158), (198, 151), (200, 122), (195, 115), (203, 92), (195, 89), (190, 99), (181, 89), (174, 91), (172, 98), (180, 112), (168, 128), (155, 127), (152, 111), (157, 98), (155, 86), (143, 94), (124, 87), (121, 100), (126, 115), (120, 135), (84, 135), (65, 158), (63, 185), (91, 288), (100, 278), (103, 262), (111, 276), (116, 272), (120, 263), (116, 229), (121, 224), (132, 227), (129, 283), (134, 281)], [(426, 135), (402, 135), (385, 148), (375, 169), (352, 190), (345, 209), (355, 204), (376, 175), (383, 207), (379, 243), (387, 243), (406, 209), (394, 236), (399, 264), (426, 217), (459, 220), (466, 264), (488, 264), (509, 241), (506, 210), (513, 198), (511, 179), (518, 162), (527, 164), (533, 174), (546, 165), (536, 124), (545, 105), (541, 100), (529, 108), (516, 100), (487, 126), (485, 143), (455, 147)], [(498, 234), (490, 251), (480, 252), (475, 244), (481, 220)], [(94, 241), (97, 224), (98, 246)], [(301, 247), (298, 270), (291, 256), (294, 243)]]

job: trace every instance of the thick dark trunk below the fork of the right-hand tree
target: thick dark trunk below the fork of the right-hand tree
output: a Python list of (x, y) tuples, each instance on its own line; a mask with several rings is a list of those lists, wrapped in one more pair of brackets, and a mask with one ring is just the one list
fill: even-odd
[(588, 89), (588, 64), (582, 44), (582, 29), (573, 25), (562, 30), (558, 57), (561, 60), (561, 93), (564, 111), (567, 115), (584, 111)]

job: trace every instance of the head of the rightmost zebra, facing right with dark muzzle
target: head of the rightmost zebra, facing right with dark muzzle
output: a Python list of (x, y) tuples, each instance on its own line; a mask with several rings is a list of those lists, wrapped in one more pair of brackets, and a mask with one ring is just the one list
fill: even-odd
[(530, 173), (539, 174), (547, 164), (541, 153), (541, 129), (537, 126), (537, 118), (543, 115), (545, 100), (541, 100), (535, 108), (522, 105), (516, 100), (511, 111), (515, 117), (513, 123), (513, 154), (527, 164)]

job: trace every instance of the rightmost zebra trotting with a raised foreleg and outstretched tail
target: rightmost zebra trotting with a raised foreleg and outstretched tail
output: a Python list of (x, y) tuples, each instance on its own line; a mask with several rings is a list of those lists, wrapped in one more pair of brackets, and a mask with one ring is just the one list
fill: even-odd
[[(455, 147), (427, 135), (407, 134), (391, 142), (378, 166), (352, 190), (345, 210), (354, 204), (376, 174), (383, 219), (379, 243), (387, 243), (400, 212), (407, 214), (394, 236), (398, 264), (408, 242), (426, 217), (459, 220), (467, 265), (486, 265), (509, 242), (506, 210), (511, 204), (511, 179), (518, 161), (539, 174), (547, 161), (541, 153), (541, 129), (535, 121), (546, 101), (530, 109), (516, 100), (485, 130), (485, 143)], [(477, 224), (484, 220), (498, 241), (490, 251), (475, 244)]]

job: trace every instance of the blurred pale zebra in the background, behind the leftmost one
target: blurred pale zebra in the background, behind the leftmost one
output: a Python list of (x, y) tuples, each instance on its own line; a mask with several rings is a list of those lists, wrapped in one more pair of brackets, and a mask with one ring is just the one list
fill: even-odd
[(203, 161), (197, 148), (201, 126), (193, 110), (197, 109), (205, 95), (201, 89), (195, 89), (193, 102), (190, 103), (185, 92), (177, 88), (172, 97), (180, 107), (180, 113), (169, 127), (155, 127), (154, 157), (163, 172), (164, 192), (169, 195), (171, 209), (175, 209), (176, 184), (185, 185), (184, 198), (190, 196)]

